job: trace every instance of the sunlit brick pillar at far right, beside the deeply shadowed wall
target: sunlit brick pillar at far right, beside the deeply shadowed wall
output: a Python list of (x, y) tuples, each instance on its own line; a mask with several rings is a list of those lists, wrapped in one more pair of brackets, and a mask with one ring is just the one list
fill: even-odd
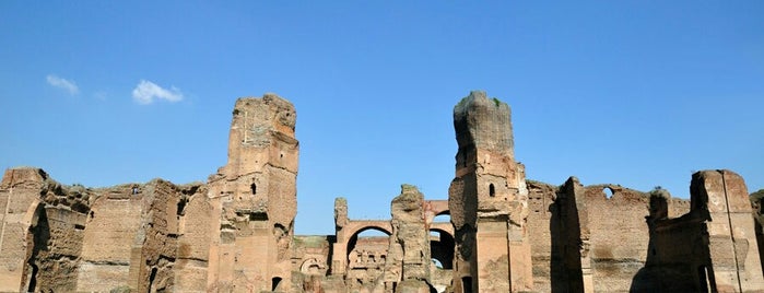
[(719, 292), (761, 292), (764, 279), (745, 183), (731, 171), (693, 174), (693, 210), (707, 213), (709, 276)]

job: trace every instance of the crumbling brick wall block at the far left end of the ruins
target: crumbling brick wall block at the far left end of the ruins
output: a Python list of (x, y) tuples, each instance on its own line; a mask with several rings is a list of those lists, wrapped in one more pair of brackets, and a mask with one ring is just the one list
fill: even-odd
[(0, 183), (0, 291), (73, 291), (93, 195), (39, 168), (8, 169)]

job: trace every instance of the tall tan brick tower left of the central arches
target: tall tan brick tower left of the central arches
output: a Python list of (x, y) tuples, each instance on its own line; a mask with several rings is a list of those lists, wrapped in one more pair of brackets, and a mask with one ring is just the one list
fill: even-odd
[(236, 101), (228, 163), (210, 179), (221, 224), (208, 288), (291, 291), (299, 154), (295, 120), (294, 106), (274, 94)]

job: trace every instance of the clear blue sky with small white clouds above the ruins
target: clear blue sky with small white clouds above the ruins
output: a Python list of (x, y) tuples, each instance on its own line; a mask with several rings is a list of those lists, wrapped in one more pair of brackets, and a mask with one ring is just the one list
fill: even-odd
[(762, 1), (0, 1), (0, 167), (66, 184), (205, 180), (231, 110), (297, 107), (299, 234), (447, 198), (454, 105), (513, 108), (529, 178), (764, 188)]

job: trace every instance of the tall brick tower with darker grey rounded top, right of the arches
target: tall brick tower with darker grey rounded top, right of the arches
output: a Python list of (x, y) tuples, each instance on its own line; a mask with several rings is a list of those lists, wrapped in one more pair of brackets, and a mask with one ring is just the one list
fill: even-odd
[(456, 230), (455, 292), (532, 289), (525, 167), (515, 162), (509, 106), (471, 92), (454, 107), (459, 151), (448, 191)]

